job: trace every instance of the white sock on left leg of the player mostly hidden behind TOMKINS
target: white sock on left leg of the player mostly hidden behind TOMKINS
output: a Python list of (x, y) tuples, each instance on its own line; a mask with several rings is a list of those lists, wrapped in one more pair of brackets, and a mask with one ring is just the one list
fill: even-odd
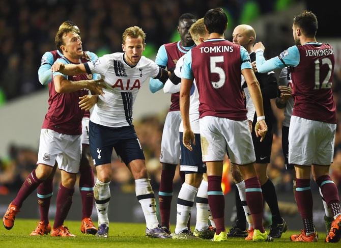
[(187, 183), (182, 184), (177, 204), (177, 225), (174, 231), (176, 234), (188, 230), (187, 223), (189, 216), (191, 215), (194, 197), (197, 191), (198, 189), (194, 186)]

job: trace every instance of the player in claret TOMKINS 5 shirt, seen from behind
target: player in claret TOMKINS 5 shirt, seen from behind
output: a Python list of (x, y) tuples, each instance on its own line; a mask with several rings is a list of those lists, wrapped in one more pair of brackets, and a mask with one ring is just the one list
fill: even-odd
[[(245, 179), (246, 200), (254, 222), (253, 240), (272, 241), (263, 228), (263, 196), (254, 170), (252, 138), (241, 90), (241, 75), (248, 85), (258, 122), (255, 130), (262, 140), (267, 132), (262, 94), (245, 48), (223, 39), (228, 18), (221, 8), (204, 17), (208, 40), (187, 52), (181, 72), (180, 109), (184, 146), (192, 150), (195, 136), (189, 122), (189, 95), (195, 78), (199, 93), (200, 135), (203, 161), (208, 175), (208, 202), (216, 233), (213, 241), (227, 240), (224, 227), (224, 196), (221, 189), (222, 161), (226, 150), (231, 162), (240, 165)], [(229, 97), (226, 97), (226, 96)], [(236, 135), (238, 133), (238, 137)]]

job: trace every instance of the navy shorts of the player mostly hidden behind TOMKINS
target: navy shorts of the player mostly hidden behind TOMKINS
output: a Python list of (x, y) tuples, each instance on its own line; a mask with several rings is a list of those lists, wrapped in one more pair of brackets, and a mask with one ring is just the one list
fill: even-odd
[(206, 164), (203, 162), (203, 156), (201, 151), (200, 134), (195, 135), (195, 146), (191, 143), (192, 151), (188, 150), (182, 143), (183, 132), (179, 132), (181, 159), (180, 159), (180, 171), (184, 171), (185, 174), (192, 173), (206, 173)]

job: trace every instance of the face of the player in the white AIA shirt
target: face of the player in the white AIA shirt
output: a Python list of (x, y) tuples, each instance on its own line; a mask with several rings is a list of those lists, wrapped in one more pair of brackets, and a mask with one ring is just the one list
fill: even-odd
[(122, 44), (122, 49), (125, 51), (125, 59), (129, 65), (135, 66), (145, 50), (146, 43), (143, 43), (142, 37), (132, 38), (126, 37), (125, 44)]

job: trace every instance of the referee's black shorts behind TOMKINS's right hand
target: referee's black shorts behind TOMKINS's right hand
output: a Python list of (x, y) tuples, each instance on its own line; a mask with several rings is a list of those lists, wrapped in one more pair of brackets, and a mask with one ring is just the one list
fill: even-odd
[[(266, 120), (267, 121), (267, 120)], [(268, 121), (268, 132), (261, 142), (261, 137), (257, 137), (254, 132), (254, 125), (252, 125), (252, 142), (254, 147), (254, 155), (256, 157), (255, 163), (270, 163), (271, 148), (272, 148), (272, 138), (273, 138), (273, 128), (271, 123)]]

